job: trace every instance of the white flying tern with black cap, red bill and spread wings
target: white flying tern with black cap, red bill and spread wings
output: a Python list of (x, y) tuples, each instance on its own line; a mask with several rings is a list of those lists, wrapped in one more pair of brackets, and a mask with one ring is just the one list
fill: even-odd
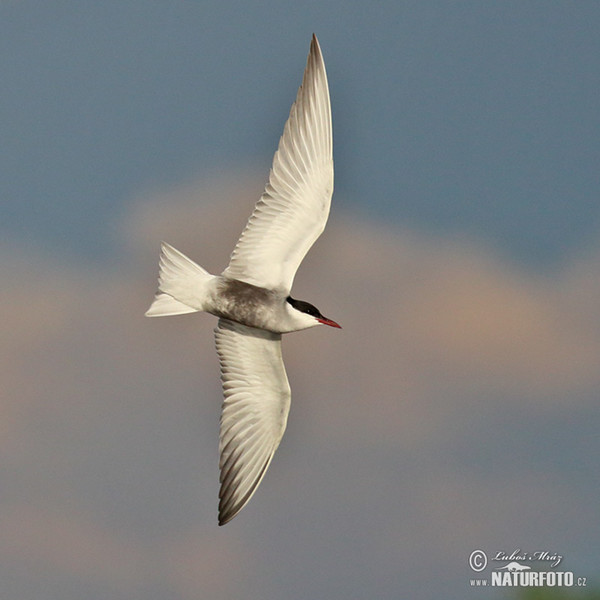
[(283, 437), (291, 391), (284, 333), (341, 326), (291, 296), (304, 256), (323, 232), (333, 194), (333, 135), (325, 63), (313, 34), (265, 190), (220, 275), (161, 243), (158, 291), (146, 316), (202, 311), (214, 330), (223, 385), (219, 525), (246, 506)]

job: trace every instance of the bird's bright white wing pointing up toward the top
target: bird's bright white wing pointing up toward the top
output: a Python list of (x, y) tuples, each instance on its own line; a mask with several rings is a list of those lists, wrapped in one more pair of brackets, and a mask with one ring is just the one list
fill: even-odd
[(289, 293), (325, 228), (333, 193), (333, 138), (325, 63), (313, 35), (302, 85), (263, 195), (223, 275)]

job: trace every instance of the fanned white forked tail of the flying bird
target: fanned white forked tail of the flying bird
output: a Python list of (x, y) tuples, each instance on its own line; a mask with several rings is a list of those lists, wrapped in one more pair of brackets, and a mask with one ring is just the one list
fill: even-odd
[(212, 278), (213, 275), (185, 254), (162, 242), (158, 292), (146, 316), (165, 317), (203, 310), (206, 287)]

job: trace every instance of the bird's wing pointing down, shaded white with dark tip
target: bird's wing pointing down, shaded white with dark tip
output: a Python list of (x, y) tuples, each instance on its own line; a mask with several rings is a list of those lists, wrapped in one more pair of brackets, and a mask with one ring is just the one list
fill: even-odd
[(215, 342), (223, 380), (219, 437), (219, 525), (242, 510), (285, 431), (290, 386), (281, 335), (219, 319)]

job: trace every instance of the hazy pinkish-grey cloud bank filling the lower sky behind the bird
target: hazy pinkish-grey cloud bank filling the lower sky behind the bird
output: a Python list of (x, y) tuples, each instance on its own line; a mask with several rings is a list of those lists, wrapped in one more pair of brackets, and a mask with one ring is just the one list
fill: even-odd
[[(332, 577), (426, 598), (411, 561), (433, 561), (459, 590), (468, 573), (452, 566), (453, 547), (558, 544), (567, 529), (591, 544), (585, 498), (597, 489), (581, 461), (597, 446), (587, 436), (600, 388), (597, 255), (525, 272), (469, 240), (360, 220), (338, 197), (295, 294), (344, 329), (286, 336), (288, 432), (248, 512), (216, 528), (214, 321), (142, 315), (159, 241), (218, 272), (260, 188), (241, 174), (140, 198), (118, 270), (37, 257), (33, 272), (6, 253), (7, 562), (148, 598), (292, 589), (294, 599)], [(350, 530), (366, 554), (347, 547)]]

